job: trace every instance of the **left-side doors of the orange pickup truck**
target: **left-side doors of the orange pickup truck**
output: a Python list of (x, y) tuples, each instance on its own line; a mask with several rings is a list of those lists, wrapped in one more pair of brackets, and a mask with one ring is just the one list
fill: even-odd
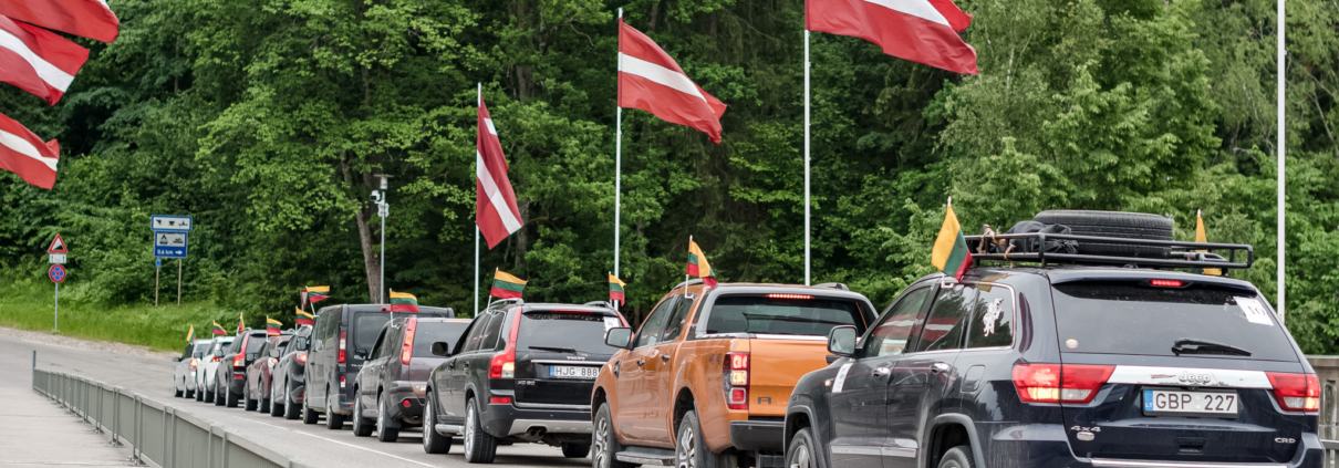
[[(657, 398), (657, 389), (661, 382), (656, 381), (659, 361), (664, 345), (660, 338), (664, 334), (665, 324), (674, 314), (674, 305), (679, 296), (671, 296), (651, 312), (641, 330), (633, 338), (633, 348), (627, 357), (619, 362), (619, 405), (615, 406), (613, 423), (631, 443), (661, 443), (664, 437), (664, 421), (656, 420), (663, 404)], [(647, 365), (651, 365), (647, 368)]]

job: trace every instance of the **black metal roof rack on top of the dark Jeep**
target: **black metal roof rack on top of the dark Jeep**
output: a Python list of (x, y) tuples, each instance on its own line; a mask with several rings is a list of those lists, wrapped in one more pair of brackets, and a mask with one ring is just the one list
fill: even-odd
[[(1070, 265), (1122, 265), (1134, 267), (1173, 267), (1173, 269), (1249, 269), (1255, 263), (1255, 249), (1245, 243), (1214, 243), (1214, 242), (1180, 242), (1180, 241), (1149, 241), (1130, 239), (1121, 237), (1098, 235), (1071, 235), (1071, 234), (995, 234), (984, 235), (990, 241), (1036, 239), (1044, 246), (1047, 241), (1075, 241), (1083, 243), (1118, 243), (1142, 247), (1168, 247), (1170, 253), (1165, 258), (1133, 257), (1133, 255), (1094, 255), (1094, 254), (1066, 254), (1040, 251), (1020, 253), (976, 253), (981, 245), (983, 235), (964, 235), (967, 249), (972, 251), (975, 261), (1002, 261), (1022, 263), (1070, 263)], [(1202, 250), (1202, 251), (1197, 251)], [(1223, 254), (1214, 253), (1223, 251)], [(1245, 261), (1239, 261), (1239, 253), (1245, 255)]]

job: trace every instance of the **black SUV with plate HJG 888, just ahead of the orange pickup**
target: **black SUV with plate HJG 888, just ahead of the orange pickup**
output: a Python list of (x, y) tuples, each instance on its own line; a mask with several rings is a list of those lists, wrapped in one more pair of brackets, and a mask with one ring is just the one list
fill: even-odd
[[(590, 392), (617, 349), (609, 328), (628, 326), (604, 302), (586, 305), (507, 301), (479, 313), (428, 377), (424, 424), (442, 452), (465, 439), (465, 459), (491, 463), (502, 443), (544, 443), (568, 457), (590, 452)], [(424, 431), (426, 437), (434, 437)], [(424, 448), (428, 444), (424, 443)]]

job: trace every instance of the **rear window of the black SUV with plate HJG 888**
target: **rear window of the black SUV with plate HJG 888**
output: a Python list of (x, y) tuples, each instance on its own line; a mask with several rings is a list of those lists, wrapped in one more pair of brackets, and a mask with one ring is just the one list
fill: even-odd
[(613, 354), (617, 349), (604, 344), (609, 326), (623, 326), (623, 322), (601, 314), (530, 312), (521, 316), (517, 349)]

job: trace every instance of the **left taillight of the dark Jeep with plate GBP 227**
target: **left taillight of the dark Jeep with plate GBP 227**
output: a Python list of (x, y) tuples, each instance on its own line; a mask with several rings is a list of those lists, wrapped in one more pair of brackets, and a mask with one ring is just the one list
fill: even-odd
[(1019, 364), (1014, 366), (1014, 386), (1023, 402), (1085, 404), (1113, 372), (1114, 365)]

